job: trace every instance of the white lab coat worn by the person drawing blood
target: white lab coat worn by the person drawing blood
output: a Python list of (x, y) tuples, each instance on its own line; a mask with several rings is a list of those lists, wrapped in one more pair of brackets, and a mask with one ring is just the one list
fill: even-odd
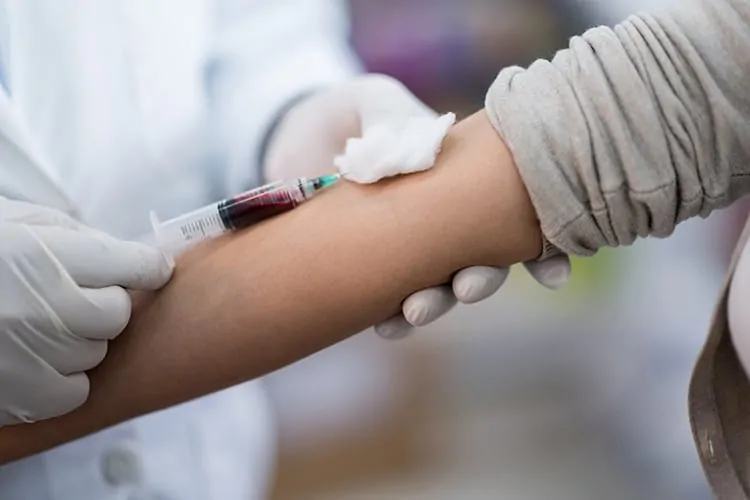
[[(148, 230), (151, 209), (170, 216), (246, 189), (283, 106), (355, 71), (342, 8), (0, 2), (11, 96), (0, 96), (0, 194), (77, 210), (127, 238)], [(273, 430), (249, 383), (3, 466), (0, 498), (262, 498)]]

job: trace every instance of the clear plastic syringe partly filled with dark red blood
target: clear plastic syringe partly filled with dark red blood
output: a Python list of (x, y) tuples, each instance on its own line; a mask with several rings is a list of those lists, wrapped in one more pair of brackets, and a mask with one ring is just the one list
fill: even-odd
[(252, 226), (294, 209), (340, 178), (336, 173), (266, 184), (165, 222), (151, 212), (156, 245), (177, 253), (199, 241)]

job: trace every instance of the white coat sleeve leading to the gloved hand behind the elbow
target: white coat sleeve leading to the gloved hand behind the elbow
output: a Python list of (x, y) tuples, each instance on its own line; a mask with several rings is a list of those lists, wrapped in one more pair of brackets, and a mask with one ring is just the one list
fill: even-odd
[(262, 182), (261, 149), (295, 99), (359, 70), (341, 0), (217, 0), (206, 66), (224, 195)]

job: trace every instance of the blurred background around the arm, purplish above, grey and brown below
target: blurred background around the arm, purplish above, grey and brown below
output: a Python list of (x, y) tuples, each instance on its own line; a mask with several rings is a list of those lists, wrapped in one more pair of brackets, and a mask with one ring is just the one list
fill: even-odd
[[(647, 2), (350, 4), (369, 71), (463, 116), (500, 68)], [(274, 500), (708, 500), (687, 384), (746, 212), (575, 261), (561, 292), (516, 269), (414, 338), (364, 332), (274, 374)]]

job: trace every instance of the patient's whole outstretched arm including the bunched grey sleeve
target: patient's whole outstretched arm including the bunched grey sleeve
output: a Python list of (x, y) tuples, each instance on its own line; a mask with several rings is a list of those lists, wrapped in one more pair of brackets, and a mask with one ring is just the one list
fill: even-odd
[[(688, 5), (591, 31), (490, 91), (490, 117), (563, 250), (665, 236), (750, 191), (750, 4)], [(477, 114), (431, 172), (341, 186), (186, 256), (165, 290), (137, 302), (91, 373), (89, 401), (0, 429), (0, 463), (261, 376), (458, 269), (532, 259), (540, 243), (510, 153)]]

